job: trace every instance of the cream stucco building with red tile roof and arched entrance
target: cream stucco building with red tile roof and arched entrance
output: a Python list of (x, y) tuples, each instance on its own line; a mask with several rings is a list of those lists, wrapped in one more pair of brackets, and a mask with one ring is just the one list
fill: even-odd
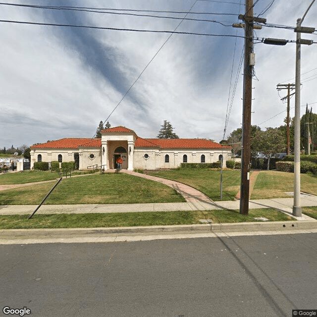
[(65, 138), (31, 146), (31, 168), (35, 161), (77, 161), (79, 169), (116, 167), (121, 156), (122, 168), (174, 168), (182, 162), (211, 163), (231, 159), (231, 148), (207, 139), (145, 139), (126, 127), (102, 131), (101, 139)]

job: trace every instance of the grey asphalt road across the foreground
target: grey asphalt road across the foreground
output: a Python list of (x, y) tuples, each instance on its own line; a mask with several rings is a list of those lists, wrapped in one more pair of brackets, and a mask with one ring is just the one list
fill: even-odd
[(291, 317), (292, 309), (317, 309), (316, 233), (0, 245), (0, 267), (0, 316), (19, 316), (3, 307), (26, 307), (31, 317)]

